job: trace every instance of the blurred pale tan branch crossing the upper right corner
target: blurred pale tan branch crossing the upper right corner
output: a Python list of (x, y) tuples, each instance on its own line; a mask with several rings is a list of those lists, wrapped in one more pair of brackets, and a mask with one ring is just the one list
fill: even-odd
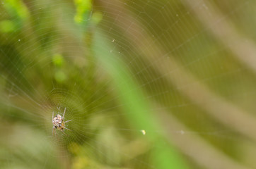
[[(245, 63), (256, 73), (256, 44), (248, 37), (241, 35), (235, 29), (226, 15), (223, 15), (209, 1), (185, 0), (185, 6), (191, 8), (193, 13), (199, 18), (206, 30), (232, 52), (233, 56)], [(204, 6), (205, 8), (195, 8)]]

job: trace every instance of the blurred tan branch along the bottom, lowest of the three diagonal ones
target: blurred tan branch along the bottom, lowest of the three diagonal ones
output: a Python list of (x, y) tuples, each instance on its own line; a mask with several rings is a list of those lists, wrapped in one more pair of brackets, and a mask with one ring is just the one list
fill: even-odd
[[(165, 111), (158, 111), (158, 113), (160, 113), (159, 117), (161, 117), (161, 122), (165, 129), (171, 131), (173, 128), (180, 128), (182, 131), (189, 131), (173, 115)], [(229, 156), (226, 156), (226, 154), (223, 154), (223, 152), (214, 148), (214, 146), (211, 146), (211, 144), (197, 135), (186, 134), (184, 132), (184, 134), (164, 134), (164, 137), (168, 139), (170, 144), (175, 144), (184, 154), (193, 158), (194, 161), (204, 168), (247, 168)]]

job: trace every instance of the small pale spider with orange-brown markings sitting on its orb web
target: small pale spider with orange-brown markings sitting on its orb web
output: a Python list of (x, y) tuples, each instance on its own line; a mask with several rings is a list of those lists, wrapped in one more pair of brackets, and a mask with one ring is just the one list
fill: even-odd
[(66, 112), (66, 108), (64, 109), (63, 117), (62, 117), (62, 115), (59, 115), (59, 113), (54, 116), (54, 112), (52, 112), (52, 125), (53, 125), (52, 135), (53, 135), (53, 130), (55, 130), (55, 135), (56, 135), (56, 130), (60, 130), (65, 135), (66, 135), (66, 133), (63, 130), (64, 129), (70, 130), (65, 127), (65, 123), (68, 123), (71, 121), (71, 120), (64, 121), (65, 112)]

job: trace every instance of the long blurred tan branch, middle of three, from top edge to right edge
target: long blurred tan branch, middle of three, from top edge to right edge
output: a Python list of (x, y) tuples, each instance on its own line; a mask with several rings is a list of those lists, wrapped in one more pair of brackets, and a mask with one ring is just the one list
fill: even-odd
[[(103, 6), (110, 5), (105, 1), (101, 1), (101, 3)], [(254, 116), (244, 112), (221, 96), (214, 94), (214, 92), (211, 92), (211, 89), (202, 84), (199, 79), (187, 72), (182, 65), (175, 61), (173, 56), (168, 54), (167, 57), (167, 52), (161, 46), (158, 46), (158, 44), (151, 45), (151, 49), (149, 50), (148, 46), (153, 42), (151, 36), (146, 35), (146, 32), (142, 31), (142, 26), (135, 18), (124, 12), (125, 8), (122, 6), (121, 1), (112, 2), (112, 5), (115, 8), (119, 8), (115, 11), (110, 11), (113, 18), (116, 17), (116, 20), (122, 19), (122, 22), (118, 22), (120, 28), (123, 29), (129, 40), (136, 46), (134, 49), (146, 56), (144, 58), (149, 64), (153, 65), (153, 68), (158, 70), (161, 75), (164, 75), (168, 82), (174, 84), (182, 95), (189, 98), (200, 108), (203, 108), (209, 115), (231, 127), (233, 130), (241, 132), (256, 141), (256, 119)], [(110, 7), (106, 8), (106, 10), (110, 10)], [(122, 12), (116, 13), (117, 11)], [(129, 28), (129, 31), (127, 31), (127, 28)], [(190, 86), (183, 87), (187, 82)]]

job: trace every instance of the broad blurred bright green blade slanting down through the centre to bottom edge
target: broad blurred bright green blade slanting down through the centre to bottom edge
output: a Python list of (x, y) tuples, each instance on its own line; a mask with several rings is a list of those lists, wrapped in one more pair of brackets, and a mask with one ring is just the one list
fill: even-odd
[[(128, 70), (125, 69), (124, 63), (118, 61), (115, 55), (108, 52), (108, 49), (112, 49), (112, 47), (107, 46), (110, 44), (104, 41), (103, 34), (100, 32), (95, 32), (95, 34), (96, 43), (93, 46), (93, 51), (113, 78), (117, 92), (120, 94), (120, 104), (124, 104), (123, 109), (127, 113), (130, 123), (134, 127), (146, 131), (163, 130), (156, 117), (153, 117), (149, 103), (144, 101), (144, 94), (131, 78), (132, 75), (129, 75)], [(153, 154), (156, 168), (186, 168), (175, 150), (170, 148), (170, 145), (162, 143), (161, 134), (153, 132), (149, 134), (149, 140), (158, 145)]]

